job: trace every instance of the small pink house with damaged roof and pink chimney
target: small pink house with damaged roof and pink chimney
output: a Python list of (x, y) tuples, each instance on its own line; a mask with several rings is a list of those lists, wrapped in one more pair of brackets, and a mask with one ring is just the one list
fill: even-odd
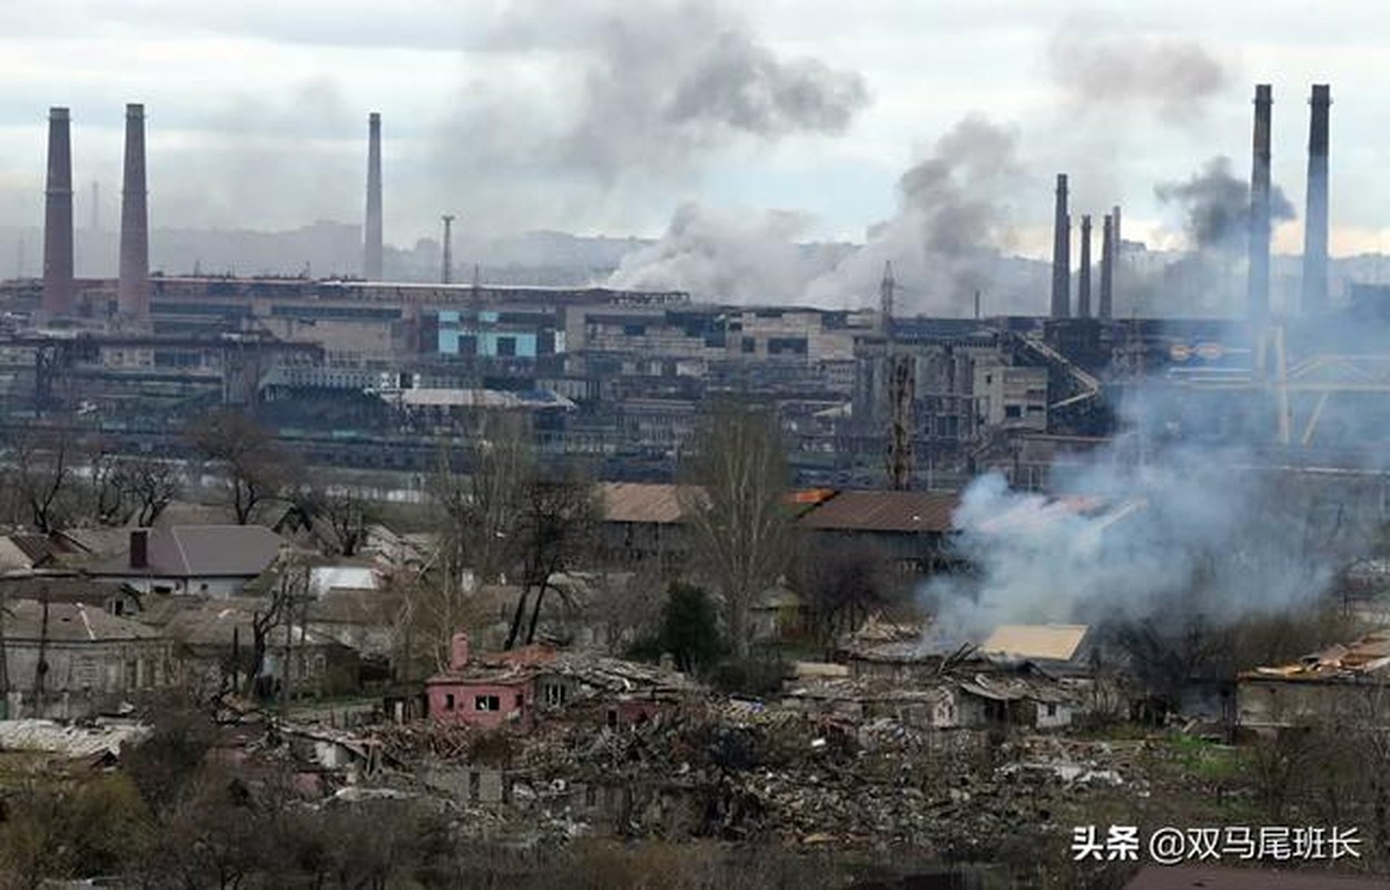
[(548, 648), (531, 646), (475, 664), (468, 653), (468, 635), (453, 635), (449, 669), (425, 680), (430, 719), (484, 729), (503, 723), (530, 726), (535, 710), (531, 666), (549, 654), (553, 653)]

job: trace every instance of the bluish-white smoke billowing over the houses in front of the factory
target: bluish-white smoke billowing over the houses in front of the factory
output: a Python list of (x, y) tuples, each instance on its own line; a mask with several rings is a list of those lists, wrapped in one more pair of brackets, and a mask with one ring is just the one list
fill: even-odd
[(1219, 625), (1312, 603), (1373, 522), (1355, 518), (1346, 492), (1252, 469), (1259, 461), (1240, 444), (1258, 437), (1251, 430), (1202, 442), (1237, 412), (1232, 397), (1194, 407), (1191, 393), (1151, 382), (1125, 405), (1125, 436), (1054, 471), (1056, 494), (977, 479), (955, 515), (959, 553), (977, 575), (927, 586), (937, 635), (1166, 623), (1186, 610)]

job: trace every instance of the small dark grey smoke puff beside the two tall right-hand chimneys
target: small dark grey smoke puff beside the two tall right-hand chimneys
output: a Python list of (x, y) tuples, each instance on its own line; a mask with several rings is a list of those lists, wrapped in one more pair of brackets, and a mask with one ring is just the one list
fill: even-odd
[[(1215, 157), (1200, 171), (1180, 182), (1154, 187), (1165, 205), (1177, 210), (1190, 247), (1237, 254), (1250, 239), (1250, 182), (1232, 172), (1229, 157)], [(1270, 218), (1283, 222), (1294, 218), (1294, 205), (1284, 193), (1270, 190)]]

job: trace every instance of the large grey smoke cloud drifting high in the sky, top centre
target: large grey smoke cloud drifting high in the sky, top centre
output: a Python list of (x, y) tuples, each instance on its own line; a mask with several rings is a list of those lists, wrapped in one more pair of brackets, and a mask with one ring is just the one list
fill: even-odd
[[(559, 85), (573, 90), (562, 119), (545, 126), (534, 117), (507, 118), (489, 135), (495, 147), (521, 149), (602, 182), (691, 175), (739, 139), (844, 133), (869, 101), (856, 72), (778, 56), (719, 0), (582, 0), (559, 8), (517, 0), (486, 44), (549, 51), (574, 71), (573, 85)], [(485, 99), (495, 107), (524, 101)]]

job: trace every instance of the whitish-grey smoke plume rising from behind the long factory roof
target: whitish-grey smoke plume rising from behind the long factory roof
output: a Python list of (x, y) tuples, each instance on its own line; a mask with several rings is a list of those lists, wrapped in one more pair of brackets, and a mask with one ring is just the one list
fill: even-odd
[(1017, 135), (967, 117), (899, 178), (898, 214), (858, 250), (794, 243), (805, 222), (795, 214), (684, 205), (660, 242), (624, 258), (607, 283), (716, 301), (872, 305), (892, 262), (903, 312), (962, 315), (976, 290), (991, 292), (991, 311), (1026, 310), (1027, 287), (1011, 305), (995, 279), (1006, 268), (1001, 250), (1012, 240), (1009, 194), (1020, 175)]

